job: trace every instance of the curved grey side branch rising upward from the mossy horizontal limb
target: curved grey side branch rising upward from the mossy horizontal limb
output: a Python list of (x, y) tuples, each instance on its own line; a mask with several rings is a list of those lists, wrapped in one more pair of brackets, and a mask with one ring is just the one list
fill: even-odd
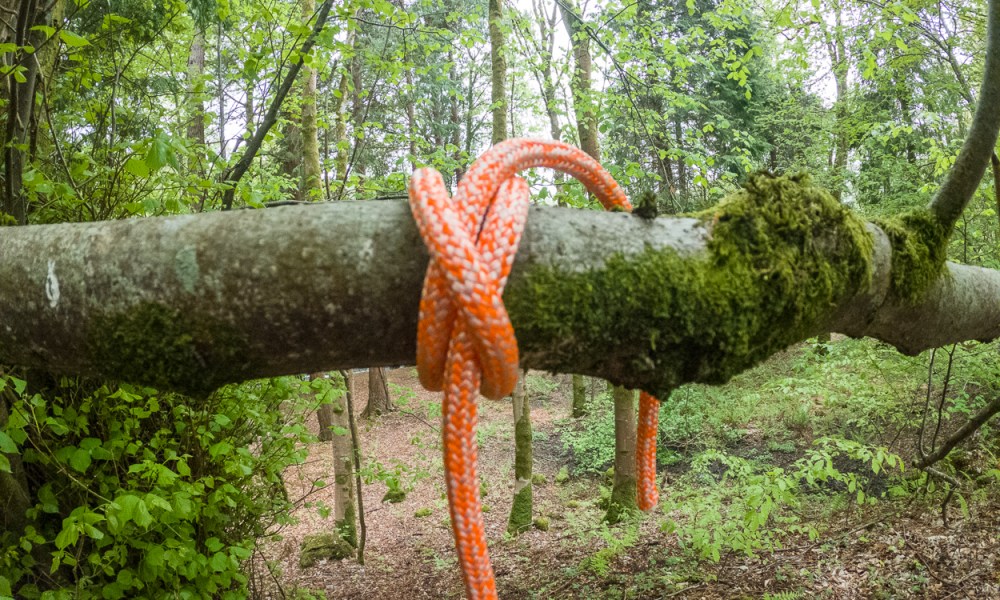
[(979, 104), (962, 151), (931, 203), (938, 221), (950, 229), (965, 210), (986, 172), (1000, 131), (1000, 0), (990, 0), (986, 30), (986, 64)]

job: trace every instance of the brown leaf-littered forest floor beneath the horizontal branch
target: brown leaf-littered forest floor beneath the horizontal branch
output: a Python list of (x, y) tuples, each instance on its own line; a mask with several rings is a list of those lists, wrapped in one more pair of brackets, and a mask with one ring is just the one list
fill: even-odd
[[(505, 534), (512, 496), (513, 419), (509, 402), (480, 403), (480, 471), (486, 529), (500, 597), (515, 598), (1000, 598), (1000, 498), (970, 502), (963, 514), (952, 502), (947, 525), (940, 496), (879, 502), (826, 513), (820, 536), (788, 534), (783, 548), (756, 556), (726, 551), (718, 562), (700, 559), (667, 533), (663, 509), (614, 528), (600, 524), (596, 475), (555, 483), (572, 456), (560, 440), (569, 410), (569, 377), (544, 378), (531, 395), (534, 472), (546, 483), (534, 490), (535, 514), (550, 519), (548, 531)], [(355, 410), (367, 396), (367, 376), (355, 374)], [(305, 600), (357, 598), (461, 598), (440, 458), (438, 394), (420, 388), (415, 370), (390, 372), (390, 391), (400, 407), (360, 421), (367, 540), (365, 565), (321, 561), (300, 569), (301, 539), (329, 530), (315, 504), (295, 513), (297, 523), (280, 532), (263, 553), (270, 561), (270, 592), (264, 597)], [(545, 383), (547, 382), (547, 383)], [(311, 423), (316, 427), (315, 421)], [(730, 452), (746, 454), (759, 444), (753, 426)], [(742, 447), (741, 447), (742, 446)], [(787, 461), (786, 461), (787, 462)], [(998, 465), (1000, 466), (1000, 465)], [(683, 465), (661, 473), (665, 500)], [(383, 503), (385, 481), (407, 491), (399, 503)], [(310, 448), (309, 460), (286, 475), (292, 498), (316, 479), (332, 481), (329, 444)], [(333, 504), (333, 489), (308, 495)], [(661, 505), (669, 502), (661, 502)], [(429, 514), (427, 514), (429, 513)], [(417, 516), (426, 515), (426, 516)], [(280, 589), (274, 585), (280, 582)], [(322, 594), (321, 594), (322, 593)]]

